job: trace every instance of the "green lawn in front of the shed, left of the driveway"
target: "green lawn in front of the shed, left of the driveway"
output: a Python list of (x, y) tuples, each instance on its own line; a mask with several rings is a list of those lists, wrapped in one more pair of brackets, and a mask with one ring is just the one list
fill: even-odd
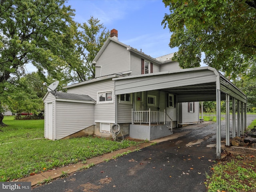
[(86, 162), (88, 158), (138, 144), (92, 136), (52, 141), (43, 138), (44, 120), (14, 120), (5, 116), (3, 122), (8, 126), (0, 127), (0, 182)]

